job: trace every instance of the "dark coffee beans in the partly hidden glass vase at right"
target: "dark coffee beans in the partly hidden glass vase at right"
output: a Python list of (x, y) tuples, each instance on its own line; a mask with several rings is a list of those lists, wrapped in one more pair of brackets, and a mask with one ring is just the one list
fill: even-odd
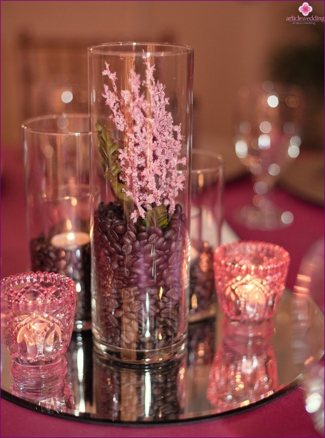
[(204, 242), (199, 248), (198, 258), (191, 261), (190, 265), (189, 313), (206, 310), (215, 300), (213, 249)]

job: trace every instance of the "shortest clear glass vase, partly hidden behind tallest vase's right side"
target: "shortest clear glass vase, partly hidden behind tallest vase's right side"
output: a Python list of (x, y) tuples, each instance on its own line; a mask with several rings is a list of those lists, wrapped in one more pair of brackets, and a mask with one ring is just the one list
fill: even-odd
[(213, 251), (221, 243), (223, 201), (222, 157), (205, 149), (193, 149), (189, 322), (216, 313)]

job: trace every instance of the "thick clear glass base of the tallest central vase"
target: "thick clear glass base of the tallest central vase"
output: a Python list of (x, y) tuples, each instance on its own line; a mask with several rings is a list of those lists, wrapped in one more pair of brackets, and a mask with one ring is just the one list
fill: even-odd
[(105, 359), (129, 364), (154, 364), (170, 360), (184, 354), (187, 335), (183, 335), (178, 342), (153, 350), (130, 350), (107, 345), (96, 329), (93, 329), (94, 351)]

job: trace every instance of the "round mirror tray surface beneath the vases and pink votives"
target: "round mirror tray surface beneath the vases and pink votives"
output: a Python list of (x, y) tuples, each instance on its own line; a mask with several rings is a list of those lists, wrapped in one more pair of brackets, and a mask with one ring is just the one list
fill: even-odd
[(322, 311), (307, 295), (308, 313), (299, 329), (297, 305), (294, 294), (285, 290), (272, 322), (262, 324), (230, 323), (217, 307), (216, 318), (189, 324), (185, 357), (155, 365), (102, 360), (93, 352), (90, 331), (73, 333), (64, 354), (66, 365), (62, 357), (59, 376), (49, 375), (50, 389), (35, 366), (27, 382), (31, 376), (27, 371), (10, 375), (11, 357), (2, 344), (1, 397), (18, 403), (14, 394), (23, 406), (35, 410), (44, 406), (42, 412), (94, 423), (167, 423), (253, 406), (301, 381), (307, 365), (298, 363), (294, 354), (297, 333), (301, 345), (308, 342), (309, 356), (319, 360), (323, 355)]

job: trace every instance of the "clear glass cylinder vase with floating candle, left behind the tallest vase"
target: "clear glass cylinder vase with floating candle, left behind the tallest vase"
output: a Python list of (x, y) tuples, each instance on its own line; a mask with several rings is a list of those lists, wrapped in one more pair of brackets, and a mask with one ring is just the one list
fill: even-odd
[(22, 128), (30, 267), (74, 280), (74, 329), (90, 329), (88, 115), (37, 117), (26, 120)]

